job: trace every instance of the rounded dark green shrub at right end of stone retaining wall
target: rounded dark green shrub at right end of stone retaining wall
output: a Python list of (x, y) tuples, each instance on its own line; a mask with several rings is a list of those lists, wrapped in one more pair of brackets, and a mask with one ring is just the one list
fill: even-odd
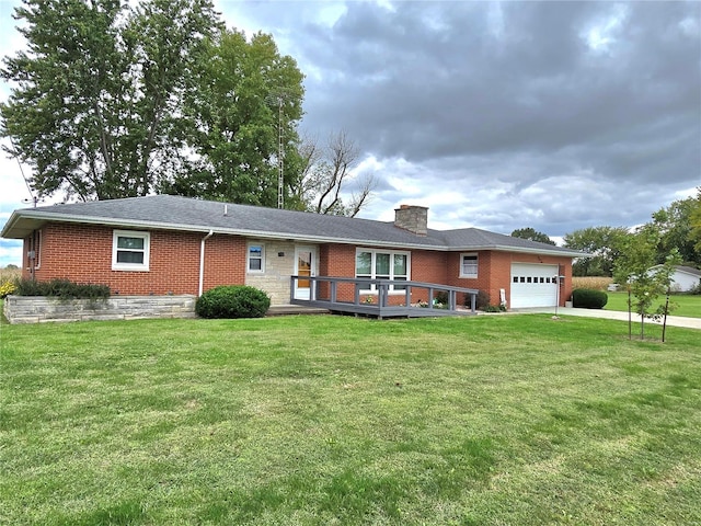
[(244, 285), (220, 286), (204, 293), (195, 304), (200, 318), (262, 318), (271, 307), (263, 290)]

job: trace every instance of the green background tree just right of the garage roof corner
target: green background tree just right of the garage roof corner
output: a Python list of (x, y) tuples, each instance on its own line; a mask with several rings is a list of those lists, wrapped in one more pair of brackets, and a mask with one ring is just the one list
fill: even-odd
[(622, 243), (630, 236), (625, 227), (588, 227), (564, 236), (564, 245), (591, 255), (578, 258), (572, 265), (575, 276), (611, 276)]

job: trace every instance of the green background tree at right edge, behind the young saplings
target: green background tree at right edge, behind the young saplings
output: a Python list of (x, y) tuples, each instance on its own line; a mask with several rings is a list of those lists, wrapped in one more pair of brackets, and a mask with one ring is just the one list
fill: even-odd
[(699, 199), (689, 197), (675, 201), (653, 214), (652, 224), (660, 235), (657, 245), (658, 263), (663, 263), (667, 255), (676, 250), (681, 261), (693, 266), (701, 265), (701, 250), (696, 247), (692, 235), (692, 214), (698, 208)]

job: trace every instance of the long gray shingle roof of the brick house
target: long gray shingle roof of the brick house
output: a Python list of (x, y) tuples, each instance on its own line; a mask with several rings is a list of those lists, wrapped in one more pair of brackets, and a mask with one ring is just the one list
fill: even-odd
[[(225, 214), (226, 211), (226, 214)], [(2, 237), (21, 239), (46, 221), (101, 224), (123, 228), (162, 228), (283, 238), (308, 242), (428, 250), (515, 250), (553, 255), (583, 255), (545, 243), (476, 228), (433, 230), (418, 236), (393, 222), (258, 206), (225, 204), (173, 195), (94, 201), (15, 210)]]

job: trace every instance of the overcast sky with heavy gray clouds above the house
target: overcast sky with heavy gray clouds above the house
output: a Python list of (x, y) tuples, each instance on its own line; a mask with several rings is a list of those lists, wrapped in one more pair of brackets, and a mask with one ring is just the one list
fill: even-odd
[[(16, 3), (0, 0), (3, 50), (22, 45)], [(356, 141), (379, 183), (361, 217), (416, 204), (433, 228), (561, 237), (701, 185), (701, 2), (216, 3), (297, 60), (303, 133)], [(28, 192), (16, 161), (0, 178), (3, 225)]]

